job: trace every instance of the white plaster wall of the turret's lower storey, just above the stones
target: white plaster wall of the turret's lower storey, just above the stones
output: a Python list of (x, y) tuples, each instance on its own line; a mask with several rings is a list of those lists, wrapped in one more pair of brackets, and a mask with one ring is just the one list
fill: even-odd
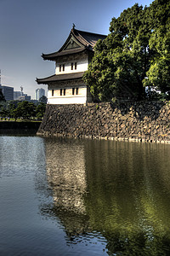
[(65, 96), (60, 96), (60, 89), (48, 90), (48, 104), (84, 104), (87, 102), (87, 87), (79, 87), (78, 95), (72, 95), (72, 88), (65, 89)]

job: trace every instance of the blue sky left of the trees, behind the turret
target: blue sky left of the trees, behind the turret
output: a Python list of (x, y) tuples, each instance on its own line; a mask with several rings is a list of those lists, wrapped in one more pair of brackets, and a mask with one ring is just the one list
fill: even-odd
[(0, 0), (1, 83), (34, 98), (36, 78), (54, 74), (54, 61), (42, 53), (57, 51), (68, 37), (72, 23), (88, 32), (108, 34), (112, 17), (134, 3), (149, 6), (150, 0)]

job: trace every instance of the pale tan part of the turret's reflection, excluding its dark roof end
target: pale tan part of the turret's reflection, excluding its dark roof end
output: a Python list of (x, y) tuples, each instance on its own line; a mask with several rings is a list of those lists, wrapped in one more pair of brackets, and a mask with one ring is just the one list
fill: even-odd
[(62, 210), (85, 212), (82, 195), (86, 192), (84, 148), (74, 143), (46, 144), (48, 183), (54, 192), (54, 205)]

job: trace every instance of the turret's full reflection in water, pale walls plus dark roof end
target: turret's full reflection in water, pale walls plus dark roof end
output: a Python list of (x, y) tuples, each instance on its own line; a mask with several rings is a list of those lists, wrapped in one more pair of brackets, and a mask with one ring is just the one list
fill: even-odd
[[(80, 143), (46, 140), (46, 165), (48, 184), (53, 189), (55, 214), (71, 234), (86, 230), (86, 193), (84, 148)], [(75, 142), (75, 141), (74, 141)]]

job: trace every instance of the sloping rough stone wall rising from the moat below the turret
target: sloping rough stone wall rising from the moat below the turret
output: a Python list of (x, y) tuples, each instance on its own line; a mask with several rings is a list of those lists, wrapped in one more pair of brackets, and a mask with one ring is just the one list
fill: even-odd
[(170, 143), (170, 104), (47, 105), (37, 135)]

